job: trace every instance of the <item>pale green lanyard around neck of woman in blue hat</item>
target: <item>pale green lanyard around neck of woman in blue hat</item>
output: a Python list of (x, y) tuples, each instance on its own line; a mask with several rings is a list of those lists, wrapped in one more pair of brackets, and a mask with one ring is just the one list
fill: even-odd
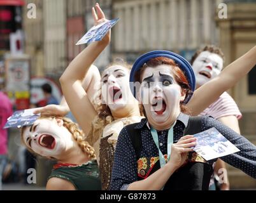
[[(174, 122), (173, 126), (168, 131), (168, 138), (167, 138), (167, 161), (169, 161), (171, 156), (171, 145), (173, 144), (173, 127), (176, 124)], [(157, 148), (159, 150), (159, 161), (160, 161), (160, 167), (164, 167), (166, 165), (166, 159), (164, 159), (164, 155), (162, 154), (160, 148), (159, 148), (159, 140), (158, 140), (158, 134), (157, 131), (154, 128), (150, 129), (153, 141), (155, 141), (155, 145), (157, 145)]]

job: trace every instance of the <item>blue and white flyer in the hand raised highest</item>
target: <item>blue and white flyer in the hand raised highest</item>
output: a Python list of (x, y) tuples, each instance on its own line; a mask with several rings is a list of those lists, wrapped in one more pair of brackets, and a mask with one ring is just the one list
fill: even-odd
[(94, 41), (101, 41), (103, 37), (107, 34), (108, 30), (111, 29), (117, 22), (119, 18), (113, 20), (107, 20), (99, 25), (92, 27), (79, 41), (76, 45), (92, 43)]

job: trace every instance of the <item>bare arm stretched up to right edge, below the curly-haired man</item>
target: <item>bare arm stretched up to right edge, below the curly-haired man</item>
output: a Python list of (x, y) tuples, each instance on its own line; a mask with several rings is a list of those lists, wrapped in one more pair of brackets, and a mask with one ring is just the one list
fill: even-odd
[(242, 77), (244, 77), (256, 64), (256, 46), (245, 55), (241, 56), (228, 65), (217, 77), (198, 88), (187, 107), (192, 115), (198, 115), (217, 98), (232, 88)]

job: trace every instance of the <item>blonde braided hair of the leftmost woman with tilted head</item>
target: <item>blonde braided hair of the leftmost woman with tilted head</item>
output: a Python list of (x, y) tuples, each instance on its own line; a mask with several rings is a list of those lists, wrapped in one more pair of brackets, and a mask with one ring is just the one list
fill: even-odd
[[(55, 117), (46, 117), (41, 116), (39, 119), (54, 119)], [(63, 121), (63, 126), (68, 129), (68, 131), (72, 134), (74, 140), (78, 143), (78, 146), (81, 148), (83, 152), (85, 152), (87, 155), (89, 155), (90, 159), (96, 159), (96, 154), (94, 151), (94, 148), (89, 145), (87, 141), (85, 141), (85, 134), (81, 129), (79, 129), (78, 124), (71, 121), (71, 119), (68, 119), (66, 117), (60, 117)], [(26, 126), (22, 128), (21, 136), (24, 134), (24, 129)], [(24, 140), (22, 139), (22, 142), (24, 143)], [(25, 145), (25, 143), (24, 143)], [(31, 148), (27, 148), (29, 152), (32, 154), (36, 154), (34, 151), (31, 150)], [(39, 154), (36, 154), (39, 155)]]

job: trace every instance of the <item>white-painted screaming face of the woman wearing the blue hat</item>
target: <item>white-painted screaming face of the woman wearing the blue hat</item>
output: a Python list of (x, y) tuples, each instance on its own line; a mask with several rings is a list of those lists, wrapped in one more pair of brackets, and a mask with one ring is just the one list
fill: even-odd
[(180, 101), (185, 98), (171, 67), (147, 67), (141, 75), (140, 94), (148, 122), (156, 129), (170, 128), (180, 114)]

